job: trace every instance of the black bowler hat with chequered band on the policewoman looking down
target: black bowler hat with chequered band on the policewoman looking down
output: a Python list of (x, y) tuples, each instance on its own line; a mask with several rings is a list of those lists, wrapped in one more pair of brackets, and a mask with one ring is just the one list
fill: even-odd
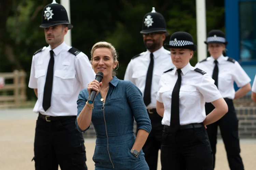
[(196, 51), (197, 46), (193, 42), (193, 37), (187, 32), (175, 32), (170, 37), (169, 44), (165, 44), (166, 48), (182, 48)]

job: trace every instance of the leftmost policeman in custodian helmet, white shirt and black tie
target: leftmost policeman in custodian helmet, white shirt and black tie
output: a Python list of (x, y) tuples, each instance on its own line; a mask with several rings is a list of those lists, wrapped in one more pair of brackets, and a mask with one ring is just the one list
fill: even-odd
[(34, 140), (36, 170), (87, 170), (82, 133), (75, 127), (77, 96), (95, 79), (88, 57), (65, 44), (73, 26), (65, 8), (53, 1), (43, 9), (41, 28), (49, 44), (34, 53), (29, 87), (38, 100)]

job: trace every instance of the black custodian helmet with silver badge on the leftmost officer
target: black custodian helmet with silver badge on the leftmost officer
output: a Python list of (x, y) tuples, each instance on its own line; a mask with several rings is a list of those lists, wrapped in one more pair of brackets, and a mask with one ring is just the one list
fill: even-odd
[(73, 25), (69, 23), (65, 7), (53, 0), (53, 3), (46, 5), (43, 9), (40, 28), (52, 27), (58, 24), (67, 24), (68, 29), (73, 28)]

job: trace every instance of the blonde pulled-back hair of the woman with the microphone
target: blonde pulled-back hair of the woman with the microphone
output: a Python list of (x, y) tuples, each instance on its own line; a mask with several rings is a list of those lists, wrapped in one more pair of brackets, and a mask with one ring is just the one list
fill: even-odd
[(119, 63), (118, 63), (118, 53), (116, 52), (116, 49), (115, 47), (111, 44), (111, 43), (108, 43), (106, 41), (100, 41), (98, 43), (96, 43), (93, 48), (91, 48), (91, 64), (93, 64), (93, 53), (96, 49), (98, 48), (108, 48), (111, 50), (111, 53), (112, 53), (112, 57), (113, 57), (113, 60), (114, 60), (114, 63), (117, 63), (117, 66), (113, 69), (112, 71), (112, 76), (115, 76), (116, 75), (116, 70), (118, 69), (119, 67)]

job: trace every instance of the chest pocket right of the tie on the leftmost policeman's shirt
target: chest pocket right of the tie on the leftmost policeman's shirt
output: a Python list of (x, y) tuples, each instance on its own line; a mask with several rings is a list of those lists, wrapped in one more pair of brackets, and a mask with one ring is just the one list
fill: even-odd
[(53, 92), (60, 95), (70, 95), (74, 92), (75, 71), (55, 70)]

